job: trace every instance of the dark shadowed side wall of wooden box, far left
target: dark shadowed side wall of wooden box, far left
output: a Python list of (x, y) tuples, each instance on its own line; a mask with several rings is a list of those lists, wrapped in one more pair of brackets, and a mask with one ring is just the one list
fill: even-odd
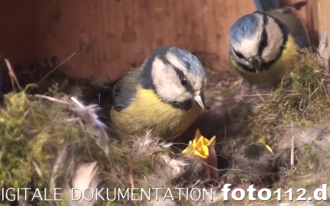
[(36, 2), (1, 1), (0, 55), (14, 62), (34, 61), (38, 50)]

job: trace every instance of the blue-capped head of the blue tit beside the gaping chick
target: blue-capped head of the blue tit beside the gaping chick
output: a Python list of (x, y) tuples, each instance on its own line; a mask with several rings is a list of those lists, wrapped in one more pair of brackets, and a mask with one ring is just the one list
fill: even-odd
[(196, 56), (174, 46), (158, 47), (143, 67), (142, 78), (150, 75), (150, 84), (162, 100), (178, 104), (195, 101), (205, 109), (206, 74)]

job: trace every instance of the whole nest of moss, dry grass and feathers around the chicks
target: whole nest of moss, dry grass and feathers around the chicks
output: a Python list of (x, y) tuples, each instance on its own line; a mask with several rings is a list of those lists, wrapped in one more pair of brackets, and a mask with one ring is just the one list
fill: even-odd
[[(319, 187), (322, 182), (329, 181), (330, 130), (327, 120), (330, 114), (330, 78), (316, 54), (302, 50), (301, 55), (302, 59), (296, 62), (292, 72), (284, 76), (274, 90), (244, 87), (230, 73), (209, 75), (213, 79), (210, 79), (205, 96), (210, 109), (203, 112), (191, 129), (173, 143), (165, 143), (147, 133), (142, 137), (132, 136), (131, 144), (122, 145), (108, 130), (106, 134), (100, 134), (100, 128), (106, 129), (103, 123), (107, 123), (107, 118), (95, 116), (95, 112), (104, 112), (106, 116), (108, 111), (84, 106), (83, 103), (91, 101), (84, 99), (82, 92), (72, 93), (77, 89), (77, 82), (70, 87), (68, 81), (54, 78), (57, 83), (51, 81), (53, 86), (47, 90), (41, 85), (27, 85), (22, 91), (9, 92), (4, 96), (0, 109), (0, 138), (3, 142), (0, 149), (0, 187), (29, 187), (32, 188), (29, 195), (33, 195), (33, 188), (89, 186), (214, 187), (215, 191), (224, 183), (232, 183), (235, 187), (253, 183), (269, 186), (271, 183), (274, 190), (278, 187)], [(217, 73), (214, 70), (208, 72)], [(32, 92), (31, 88), (34, 89)], [(84, 86), (78, 90), (81, 88)], [(33, 95), (35, 93), (45, 96)], [(82, 105), (75, 104), (68, 94), (75, 96)], [(95, 96), (93, 98), (95, 100)], [(223, 175), (220, 184), (203, 184), (198, 180), (198, 174), (193, 177), (189, 173), (191, 166), (196, 170), (201, 162), (175, 154), (192, 139), (196, 128), (200, 128), (208, 138), (217, 137), (219, 172)], [(247, 161), (242, 147), (263, 135), (275, 156)], [(100, 143), (104, 138), (110, 141), (108, 148)], [(256, 169), (253, 176), (248, 168), (255, 165), (261, 169)], [(274, 167), (278, 169), (275, 172)], [(265, 183), (269, 179), (276, 181)], [(179, 196), (175, 192), (173, 195)], [(221, 193), (214, 195), (213, 203), (223, 204)], [(62, 205), (64, 202), (53, 204)], [(66, 204), (85, 203), (68, 201)], [(109, 202), (97, 203), (102, 204), (109, 205)], [(121, 201), (113, 204), (133, 203)]]

